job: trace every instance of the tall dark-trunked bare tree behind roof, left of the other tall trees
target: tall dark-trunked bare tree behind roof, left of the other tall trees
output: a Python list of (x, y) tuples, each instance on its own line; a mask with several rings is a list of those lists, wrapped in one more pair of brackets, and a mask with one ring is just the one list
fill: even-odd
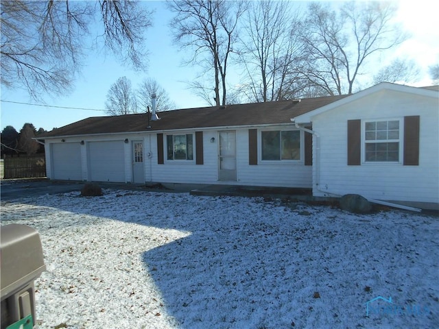
[[(193, 49), (189, 60), (206, 70), (213, 70), (215, 105), (226, 105), (226, 72), (230, 53), (236, 41), (237, 23), (244, 12), (241, 1), (183, 0), (172, 1), (169, 8), (176, 13), (171, 21), (175, 40)], [(206, 88), (196, 83), (195, 88)], [(220, 90), (222, 93), (220, 93)]]

